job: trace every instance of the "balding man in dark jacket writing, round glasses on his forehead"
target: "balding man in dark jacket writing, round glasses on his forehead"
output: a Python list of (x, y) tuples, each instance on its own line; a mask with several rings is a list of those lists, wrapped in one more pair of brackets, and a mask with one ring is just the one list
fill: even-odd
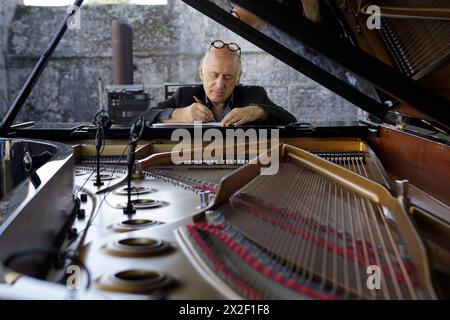
[(269, 99), (264, 88), (239, 84), (240, 50), (235, 43), (213, 41), (199, 67), (203, 85), (179, 88), (168, 100), (151, 108), (147, 119), (166, 123), (214, 121), (223, 127), (296, 122)]

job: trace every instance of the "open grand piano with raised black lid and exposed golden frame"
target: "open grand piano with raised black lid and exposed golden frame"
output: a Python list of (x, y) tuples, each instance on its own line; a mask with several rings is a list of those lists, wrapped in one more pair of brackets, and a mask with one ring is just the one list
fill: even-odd
[(89, 123), (12, 125), (71, 12), (0, 128), (0, 298), (448, 299), (448, 1), (183, 1), (367, 117), (269, 128), (274, 175), (234, 139), (256, 161), (175, 164), (148, 123), (128, 161), (130, 128), (105, 129), (96, 162)]

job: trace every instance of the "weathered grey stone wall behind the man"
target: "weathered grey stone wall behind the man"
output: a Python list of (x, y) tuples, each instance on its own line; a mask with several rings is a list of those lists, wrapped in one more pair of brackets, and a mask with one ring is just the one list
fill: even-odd
[[(11, 97), (49, 43), (65, 10), (17, 6), (7, 41), (5, 79)], [(167, 6), (83, 7), (81, 29), (66, 33), (28, 99), (22, 120), (90, 121), (98, 109), (98, 77), (106, 84), (112, 81), (111, 24), (119, 18), (133, 27), (134, 81), (145, 85), (154, 98), (152, 105), (163, 99), (164, 83), (199, 82), (198, 64), (204, 50), (211, 40), (224, 39), (242, 47), (241, 82), (264, 86), (272, 100), (299, 121), (358, 117), (358, 109), (342, 98), (183, 2), (169, 0)]]

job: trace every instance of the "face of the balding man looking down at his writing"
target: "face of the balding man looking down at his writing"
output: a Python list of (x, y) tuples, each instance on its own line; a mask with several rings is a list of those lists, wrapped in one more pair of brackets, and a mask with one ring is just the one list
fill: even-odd
[(211, 48), (200, 66), (200, 79), (208, 99), (225, 103), (239, 83), (240, 64), (236, 53), (227, 48)]

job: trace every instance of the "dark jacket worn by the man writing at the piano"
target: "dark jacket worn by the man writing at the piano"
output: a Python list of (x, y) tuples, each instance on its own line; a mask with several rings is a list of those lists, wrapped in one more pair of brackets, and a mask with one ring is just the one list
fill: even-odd
[[(194, 103), (194, 96), (211, 109), (212, 105), (209, 103), (202, 85), (196, 87), (181, 87), (178, 88), (169, 99), (158, 103), (156, 107), (150, 108), (146, 112), (146, 118), (152, 123), (158, 122), (160, 119), (169, 118), (173, 109), (188, 107)], [(267, 96), (266, 90), (259, 86), (236, 86), (232, 96), (225, 105), (224, 111), (227, 111), (227, 107), (231, 111), (234, 108), (252, 105), (260, 106), (267, 113), (267, 118), (265, 120), (258, 120), (256, 123), (284, 125), (297, 121), (297, 119), (287, 110), (273, 103)], [(220, 118), (223, 119), (224, 116), (225, 112)], [(221, 119), (217, 119), (217, 121), (220, 121)]]

